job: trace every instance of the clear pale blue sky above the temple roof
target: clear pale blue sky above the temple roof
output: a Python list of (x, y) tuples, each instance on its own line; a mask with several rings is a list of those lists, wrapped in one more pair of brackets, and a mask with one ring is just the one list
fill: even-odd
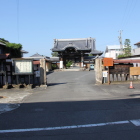
[(29, 57), (51, 57), (53, 39), (96, 39), (96, 49), (140, 41), (139, 0), (0, 0), (0, 38), (22, 44)]

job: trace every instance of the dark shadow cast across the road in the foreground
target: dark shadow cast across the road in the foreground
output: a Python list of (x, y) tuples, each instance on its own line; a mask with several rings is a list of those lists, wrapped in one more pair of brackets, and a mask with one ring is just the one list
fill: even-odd
[[(22, 103), (18, 109), (0, 115), (0, 130), (86, 125), (139, 118), (140, 99), (138, 98)], [(6, 133), (1, 134), (0, 138), (4, 140), (12, 140), (12, 137), (16, 136), (17, 139), (22, 138), (24, 140), (25, 138), (34, 139), (35, 137), (40, 139), (41, 136), (45, 136), (45, 138), (50, 137), (51, 140), (70, 140), (75, 137), (80, 137), (80, 139), (82, 139), (83, 136), (85, 138), (87, 136), (92, 136), (92, 139), (110, 138), (111, 140), (112, 137), (116, 137), (118, 139), (127, 139), (129, 137), (132, 139), (134, 136), (132, 128), (132, 124), (126, 124), (123, 127), (115, 125), (59, 131)], [(111, 131), (113, 131), (113, 133), (111, 133)], [(118, 131), (121, 132), (122, 135), (118, 135)], [(138, 136), (139, 132), (135, 135)]]

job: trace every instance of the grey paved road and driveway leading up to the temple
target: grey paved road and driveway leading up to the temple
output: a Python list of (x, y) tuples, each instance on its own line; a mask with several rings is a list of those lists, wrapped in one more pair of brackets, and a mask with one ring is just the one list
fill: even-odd
[(94, 71), (50, 73), (46, 90), (0, 115), (0, 139), (140, 139), (140, 86), (128, 87), (96, 85)]

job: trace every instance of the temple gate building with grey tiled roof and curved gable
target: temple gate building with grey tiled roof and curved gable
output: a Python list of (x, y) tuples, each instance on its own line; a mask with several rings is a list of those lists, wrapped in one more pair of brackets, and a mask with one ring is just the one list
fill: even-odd
[(72, 61), (74, 67), (84, 66), (84, 57), (102, 55), (103, 52), (95, 48), (94, 38), (54, 39), (53, 52), (58, 52), (60, 68), (66, 68), (67, 61)]

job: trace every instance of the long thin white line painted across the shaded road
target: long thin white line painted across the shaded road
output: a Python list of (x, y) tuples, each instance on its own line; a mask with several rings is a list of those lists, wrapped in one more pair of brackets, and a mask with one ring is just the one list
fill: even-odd
[(118, 122), (107, 122), (107, 123), (85, 124), (85, 125), (72, 125), (72, 126), (60, 126), (60, 127), (10, 129), (10, 130), (0, 130), (0, 133), (16, 133), (16, 132), (31, 132), (31, 131), (48, 131), (48, 130), (74, 129), (74, 128), (96, 127), (96, 126), (127, 124), (127, 123), (130, 123), (130, 122), (129, 121), (118, 121)]

